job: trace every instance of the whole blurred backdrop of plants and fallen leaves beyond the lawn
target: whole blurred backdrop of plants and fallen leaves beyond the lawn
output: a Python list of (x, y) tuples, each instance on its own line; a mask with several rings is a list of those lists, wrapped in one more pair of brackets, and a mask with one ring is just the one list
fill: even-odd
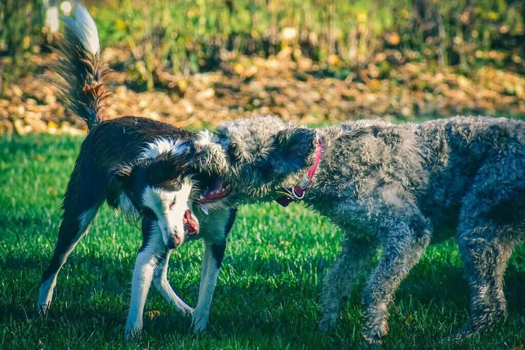
[[(34, 77), (59, 38), (46, 11), (75, 3), (0, 0), (0, 132), (55, 130), (68, 115)], [(525, 114), (523, 0), (83, 3), (114, 70), (110, 116), (199, 128), (247, 113), (304, 123)]]

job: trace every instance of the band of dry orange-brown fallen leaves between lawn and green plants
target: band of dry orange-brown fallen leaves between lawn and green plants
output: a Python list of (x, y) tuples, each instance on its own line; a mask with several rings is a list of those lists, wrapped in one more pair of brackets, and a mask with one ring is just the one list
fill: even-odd
[[(120, 52), (121, 54), (121, 52)], [(118, 50), (104, 60), (117, 63)], [(293, 58), (292, 58), (293, 57)], [(36, 66), (49, 59), (34, 60)], [(114, 72), (112, 118), (140, 115), (177, 126), (213, 127), (251, 114), (278, 114), (298, 123), (337, 122), (380, 116), (412, 120), (421, 115), (525, 115), (525, 76), (488, 66), (461, 75), (425, 62), (388, 70), (379, 64), (326, 78), (311, 60), (285, 49), (275, 57), (241, 57), (220, 70), (184, 78), (158, 72), (160, 89), (137, 92), (126, 70)], [(0, 130), (27, 134), (82, 134), (85, 128), (57, 101), (49, 83), (32, 76), (7, 87), (0, 98)]]

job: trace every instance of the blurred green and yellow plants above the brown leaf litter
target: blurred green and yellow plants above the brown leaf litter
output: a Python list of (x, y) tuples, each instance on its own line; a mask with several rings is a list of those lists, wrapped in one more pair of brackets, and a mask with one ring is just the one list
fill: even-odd
[[(381, 75), (404, 61), (439, 66), (521, 63), (521, 0), (197, 0), (87, 1), (101, 45), (127, 46), (149, 89), (156, 71), (215, 69), (237, 55), (268, 57), (284, 47), (328, 72), (379, 63)], [(27, 52), (46, 43), (38, 0), (0, 3), (0, 55), (17, 75)], [(518, 65), (520, 67), (520, 65)], [(521, 66), (522, 67), (522, 66)]]

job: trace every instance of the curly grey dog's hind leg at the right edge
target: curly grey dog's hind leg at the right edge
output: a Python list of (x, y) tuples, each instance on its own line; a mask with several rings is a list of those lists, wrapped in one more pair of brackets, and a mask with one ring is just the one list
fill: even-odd
[(459, 214), (457, 241), (470, 285), (470, 319), (452, 339), (488, 331), (506, 314), (503, 273), (525, 225), (521, 146), (494, 150), (479, 168)]

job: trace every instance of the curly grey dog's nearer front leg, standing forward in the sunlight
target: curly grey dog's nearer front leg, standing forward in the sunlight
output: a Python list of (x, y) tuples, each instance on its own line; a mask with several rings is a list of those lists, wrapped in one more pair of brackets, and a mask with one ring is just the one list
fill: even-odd
[(406, 221), (388, 229), (381, 260), (364, 291), (367, 310), (363, 336), (367, 341), (381, 343), (388, 333), (388, 307), (393, 294), (429, 242), (430, 232), (426, 228), (413, 229)]

